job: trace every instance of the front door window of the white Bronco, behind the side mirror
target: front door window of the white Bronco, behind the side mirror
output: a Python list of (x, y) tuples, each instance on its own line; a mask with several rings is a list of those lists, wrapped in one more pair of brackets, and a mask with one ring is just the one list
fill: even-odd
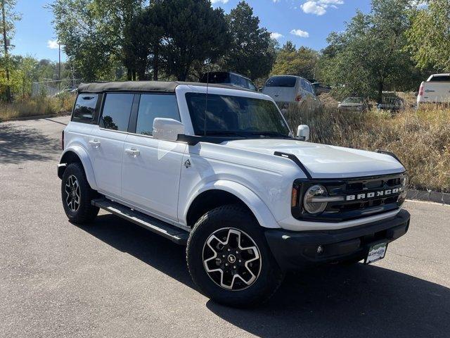
[(152, 135), (155, 118), (180, 120), (176, 96), (171, 94), (142, 94), (139, 101), (136, 134)]

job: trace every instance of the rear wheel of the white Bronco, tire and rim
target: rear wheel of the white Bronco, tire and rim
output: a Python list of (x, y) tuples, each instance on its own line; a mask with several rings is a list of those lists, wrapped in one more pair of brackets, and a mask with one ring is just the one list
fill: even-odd
[(91, 189), (79, 163), (65, 169), (61, 182), (61, 196), (65, 214), (72, 223), (83, 224), (96, 218), (99, 208), (91, 205), (97, 193)]

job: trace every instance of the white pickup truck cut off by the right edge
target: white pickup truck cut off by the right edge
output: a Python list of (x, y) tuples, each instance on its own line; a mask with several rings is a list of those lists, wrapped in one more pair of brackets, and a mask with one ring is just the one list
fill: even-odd
[(450, 104), (450, 74), (435, 74), (420, 84), (417, 106), (423, 104)]

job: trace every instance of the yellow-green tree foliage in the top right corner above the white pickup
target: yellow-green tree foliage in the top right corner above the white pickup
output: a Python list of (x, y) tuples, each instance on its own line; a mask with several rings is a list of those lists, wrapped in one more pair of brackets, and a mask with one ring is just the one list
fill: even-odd
[(407, 31), (409, 47), (418, 67), (450, 72), (450, 0), (428, 0), (414, 11)]

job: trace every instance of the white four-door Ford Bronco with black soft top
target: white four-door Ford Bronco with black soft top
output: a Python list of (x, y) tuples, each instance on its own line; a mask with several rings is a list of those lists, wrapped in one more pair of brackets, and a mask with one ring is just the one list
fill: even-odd
[(408, 230), (408, 177), (393, 154), (308, 138), (257, 92), (82, 84), (58, 165), (64, 210), (79, 224), (103, 208), (186, 245), (204, 294), (252, 306), (287, 270), (371, 263)]

